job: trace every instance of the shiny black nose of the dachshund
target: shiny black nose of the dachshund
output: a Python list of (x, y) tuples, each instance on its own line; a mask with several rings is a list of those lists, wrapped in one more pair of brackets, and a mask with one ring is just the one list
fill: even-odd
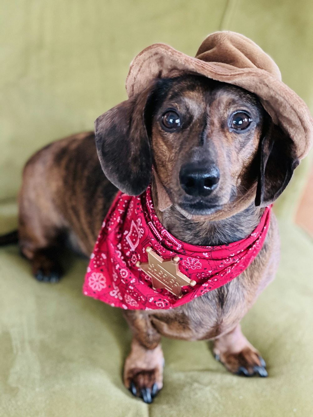
[(179, 181), (189, 196), (206, 197), (217, 187), (220, 181), (220, 170), (215, 165), (209, 168), (199, 168), (196, 164), (187, 164), (180, 170)]

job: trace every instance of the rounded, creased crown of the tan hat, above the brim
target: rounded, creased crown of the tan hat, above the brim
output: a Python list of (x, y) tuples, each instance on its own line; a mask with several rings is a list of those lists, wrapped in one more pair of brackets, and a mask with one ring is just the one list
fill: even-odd
[(215, 32), (204, 39), (196, 58), (236, 68), (259, 68), (281, 80), (278, 66), (256, 43), (240, 33)]

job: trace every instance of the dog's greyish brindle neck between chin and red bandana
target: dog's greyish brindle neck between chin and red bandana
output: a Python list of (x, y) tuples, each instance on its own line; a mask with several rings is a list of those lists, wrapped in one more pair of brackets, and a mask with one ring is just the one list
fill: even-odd
[(251, 204), (248, 208), (219, 221), (193, 221), (187, 219), (174, 205), (164, 211), (158, 208), (155, 182), (151, 184), (154, 209), (162, 225), (177, 239), (193, 245), (215, 246), (244, 239), (260, 223), (263, 209)]

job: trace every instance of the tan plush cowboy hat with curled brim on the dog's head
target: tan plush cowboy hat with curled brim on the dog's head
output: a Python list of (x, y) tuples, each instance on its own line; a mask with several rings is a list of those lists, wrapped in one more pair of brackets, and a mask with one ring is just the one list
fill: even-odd
[(273, 59), (252, 40), (235, 32), (215, 32), (204, 39), (195, 58), (163, 43), (148, 46), (132, 61), (126, 90), (131, 97), (155, 78), (183, 73), (204, 75), (255, 93), (273, 122), (294, 141), (299, 159), (312, 147), (313, 120), (308, 107), (282, 82)]

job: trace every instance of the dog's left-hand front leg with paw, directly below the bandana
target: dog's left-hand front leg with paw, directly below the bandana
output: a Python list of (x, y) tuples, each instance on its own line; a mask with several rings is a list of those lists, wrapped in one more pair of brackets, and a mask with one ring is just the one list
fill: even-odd
[(161, 335), (144, 311), (125, 311), (125, 317), (134, 335), (124, 365), (124, 384), (133, 395), (150, 403), (163, 387)]

